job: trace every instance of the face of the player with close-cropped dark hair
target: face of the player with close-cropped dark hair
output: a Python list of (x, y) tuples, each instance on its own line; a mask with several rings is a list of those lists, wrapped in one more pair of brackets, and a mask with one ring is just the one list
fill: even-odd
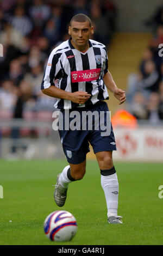
[(93, 27), (90, 27), (89, 21), (72, 21), (68, 28), (68, 34), (72, 37), (72, 44), (76, 48), (87, 48), (90, 36), (93, 34)]

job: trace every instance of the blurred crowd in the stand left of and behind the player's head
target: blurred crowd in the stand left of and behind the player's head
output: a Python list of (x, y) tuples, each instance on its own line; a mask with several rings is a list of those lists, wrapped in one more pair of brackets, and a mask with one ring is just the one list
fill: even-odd
[(0, 8), (0, 117), (23, 117), (26, 111), (54, 111), (53, 98), (40, 84), (49, 53), (67, 40), (68, 25), (78, 13), (89, 15), (94, 40), (109, 45), (116, 7), (109, 0), (2, 0)]

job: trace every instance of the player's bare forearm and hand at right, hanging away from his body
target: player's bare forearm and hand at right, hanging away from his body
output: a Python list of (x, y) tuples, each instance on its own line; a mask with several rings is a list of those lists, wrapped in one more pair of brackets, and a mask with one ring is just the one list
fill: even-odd
[(109, 71), (105, 73), (103, 80), (104, 80), (105, 86), (110, 90), (111, 93), (114, 94), (116, 99), (120, 101), (119, 104), (122, 104), (124, 101), (126, 101), (126, 95), (124, 90), (117, 88), (112, 78), (112, 75)]

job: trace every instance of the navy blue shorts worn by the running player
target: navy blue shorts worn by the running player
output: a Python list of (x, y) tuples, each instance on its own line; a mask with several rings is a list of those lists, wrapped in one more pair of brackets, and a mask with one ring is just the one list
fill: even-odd
[[(108, 105), (104, 101), (98, 101), (95, 105), (92, 105), (91, 107), (87, 108), (76, 108), (76, 109), (69, 109), (68, 114), (66, 113), (67, 110), (62, 109), (62, 121), (65, 127), (65, 120), (66, 123), (70, 124), (74, 118), (70, 116), (70, 114), (73, 111), (77, 111), (79, 113), (78, 117), (80, 116), (80, 119), (76, 119), (79, 121), (78, 125), (80, 126), (80, 130), (72, 130), (72, 129), (59, 129), (59, 135), (61, 138), (62, 147), (64, 149), (64, 153), (66, 155), (67, 161), (72, 164), (78, 164), (82, 163), (86, 159), (86, 154), (90, 151), (89, 143), (91, 144), (94, 153), (101, 151), (112, 151), (116, 150), (116, 143), (115, 143), (115, 137), (114, 132), (112, 130), (112, 125), (110, 121), (110, 131), (109, 135), (104, 135), (104, 126), (106, 127), (106, 120), (108, 116), (106, 116), (106, 112), (109, 112)], [(83, 112), (91, 111), (91, 113), (95, 113), (96, 115), (94, 118), (94, 115), (92, 115), (91, 123), (89, 123), (90, 118), (82, 119)], [(103, 115), (103, 119), (100, 119), (97, 124), (97, 116), (101, 117), (99, 112), (105, 113)], [(73, 112), (74, 113), (74, 112)], [(74, 116), (76, 117), (76, 115)], [(68, 120), (68, 121), (67, 121)], [(101, 123), (101, 120), (103, 120), (104, 126), (102, 127), (99, 125)], [(108, 122), (109, 123), (109, 122)], [(74, 126), (77, 127), (77, 124), (73, 122)], [(90, 126), (92, 124), (92, 127)], [(102, 123), (101, 123), (102, 124)], [(84, 125), (84, 126), (82, 126)], [(98, 125), (98, 129), (97, 129)], [(70, 125), (71, 126), (71, 125)], [(83, 128), (84, 127), (84, 128)], [(96, 127), (96, 128), (95, 128)], [(73, 128), (74, 129), (74, 128)]]

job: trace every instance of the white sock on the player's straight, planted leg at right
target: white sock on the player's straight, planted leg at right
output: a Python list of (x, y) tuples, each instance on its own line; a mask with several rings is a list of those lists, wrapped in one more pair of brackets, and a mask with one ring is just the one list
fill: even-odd
[(108, 208), (107, 216), (117, 216), (118, 209), (118, 179), (117, 174), (101, 175), (101, 186), (105, 193), (106, 205)]

